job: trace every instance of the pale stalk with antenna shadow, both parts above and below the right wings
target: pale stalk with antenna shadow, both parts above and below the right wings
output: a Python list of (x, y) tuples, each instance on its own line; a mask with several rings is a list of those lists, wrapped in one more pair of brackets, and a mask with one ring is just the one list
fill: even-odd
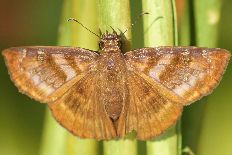
[[(172, 0), (144, 0), (145, 47), (177, 45), (175, 4)], [(148, 155), (180, 155), (180, 125), (170, 128), (161, 137), (147, 141)]]

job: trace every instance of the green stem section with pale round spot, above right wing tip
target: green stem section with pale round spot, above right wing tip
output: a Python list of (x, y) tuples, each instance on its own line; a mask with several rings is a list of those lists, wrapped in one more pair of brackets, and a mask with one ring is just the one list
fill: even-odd
[(197, 46), (216, 47), (222, 0), (195, 0)]

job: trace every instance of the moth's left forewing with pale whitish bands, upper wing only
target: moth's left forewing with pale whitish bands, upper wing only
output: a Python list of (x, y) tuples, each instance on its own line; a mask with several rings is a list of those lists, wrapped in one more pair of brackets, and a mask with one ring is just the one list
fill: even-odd
[(12, 81), (22, 93), (52, 102), (62, 96), (86, 72), (98, 54), (73, 47), (16, 47), (3, 51)]

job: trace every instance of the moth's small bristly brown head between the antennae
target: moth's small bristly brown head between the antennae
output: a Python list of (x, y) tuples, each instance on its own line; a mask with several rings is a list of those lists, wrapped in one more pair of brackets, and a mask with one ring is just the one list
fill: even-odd
[(101, 35), (101, 40), (99, 42), (100, 49), (108, 48), (121, 48), (121, 36), (117, 34), (116, 31), (106, 33)]

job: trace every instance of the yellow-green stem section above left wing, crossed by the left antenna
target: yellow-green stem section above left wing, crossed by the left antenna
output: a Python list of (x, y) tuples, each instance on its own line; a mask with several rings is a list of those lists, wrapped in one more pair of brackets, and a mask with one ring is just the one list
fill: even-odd
[[(98, 34), (97, 0), (72, 0), (72, 17), (78, 19), (84, 26)], [(91, 50), (98, 50), (98, 37), (72, 22), (72, 45)]]

